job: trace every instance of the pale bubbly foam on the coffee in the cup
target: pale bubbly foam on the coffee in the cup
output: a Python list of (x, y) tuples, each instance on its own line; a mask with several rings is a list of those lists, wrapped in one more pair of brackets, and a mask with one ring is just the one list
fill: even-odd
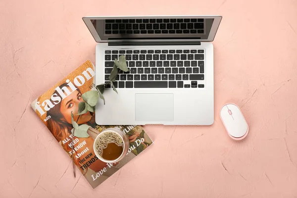
[(120, 135), (115, 132), (106, 131), (99, 134), (96, 140), (96, 151), (102, 157), (103, 149), (107, 147), (109, 143), (114, 143), (119, 147), (124, 147), (124, 142)]

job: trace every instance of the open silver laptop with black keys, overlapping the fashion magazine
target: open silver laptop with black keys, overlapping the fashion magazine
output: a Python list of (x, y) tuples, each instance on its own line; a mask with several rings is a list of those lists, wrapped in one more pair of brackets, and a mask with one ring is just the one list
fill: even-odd
[(96, 105), (99, 125), (211, 125), (213, 45), (221, 16), (83, 17), (96, 45), (96, 85), (115, 58), (127, 73)]

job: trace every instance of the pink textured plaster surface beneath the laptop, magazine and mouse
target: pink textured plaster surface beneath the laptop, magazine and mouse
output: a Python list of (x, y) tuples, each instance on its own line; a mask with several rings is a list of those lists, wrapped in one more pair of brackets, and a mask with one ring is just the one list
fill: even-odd
[[(93, 190), (29, 104), (95, 62), (82, 16), (166, 14), (223, 16), (215, 122), (145, 126), (153, 146)], [(0, 198), (297, 198), (296, 0), (1, 0), (0, 66)], [(224, 130), (226, 102), (247, 119), (242, 142)]]

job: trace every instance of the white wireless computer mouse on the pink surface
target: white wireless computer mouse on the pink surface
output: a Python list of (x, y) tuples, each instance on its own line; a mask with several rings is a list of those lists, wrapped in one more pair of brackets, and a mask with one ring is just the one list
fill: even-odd
[(225, 104), (220, 111), (221, 120), (228, 135), (234, 140), (242, 140), (248, 134), (247, 121), (240, 108), (233, 103)]

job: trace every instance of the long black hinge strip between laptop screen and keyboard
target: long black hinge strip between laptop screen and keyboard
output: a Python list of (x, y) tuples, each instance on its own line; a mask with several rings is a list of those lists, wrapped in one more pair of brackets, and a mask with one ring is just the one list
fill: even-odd
[(199, 46), (201, 45), (201, 42), (176, 42), (176, 41), (170, 41), (170, 42), (109, 42), (108, 46), (181, 46), (181, 45), (192, 45), (192, 46)]

